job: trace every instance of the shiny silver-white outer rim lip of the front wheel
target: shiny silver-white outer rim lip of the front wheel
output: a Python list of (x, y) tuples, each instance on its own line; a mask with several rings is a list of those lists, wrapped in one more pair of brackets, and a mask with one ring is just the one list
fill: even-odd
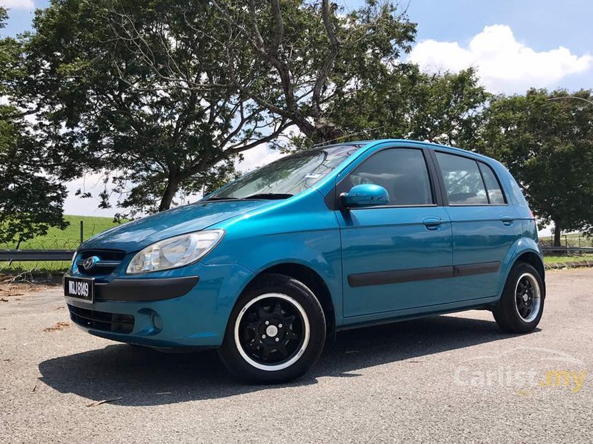
[[(245, 350), (243, 350), (243, 347), (241, 346), (241, 342), (239, 341), (239, 324), (241, 324), (241, 319), (243, 319), (243, 315), (245, 314), (245, 311), (247, 311), (248, 308), (250, 308), (250, 306), (252, 306), (253, 304), (255, 304), (258, 301), (261, 301), (261, 299), (268, 299), (268, 298), (272, 298), (272, 297), (276, 298), (276, 299), (283, 299), (286, 302), (289, 302), (290, 304), (292, 304), (294, 306), (294, 308), (297, 308), (297, 310), (299, 310), (299, 313), (301, 314), (301, 319), (303, 321), (303, 331), (305, 332), (305, 336), (303, 338), (303, 343), (301, 344), (301, 347), (294, 354), (294, 356), (292, 358), (288, 359), (288, 361), (284, 361), (279, 364), (272, 364), (272, 365), (268, 366), (268, 365), (259, 363), (257, 361), (254, 361), (247, 353), (245, 353)], [(267, 372), (277, 372), (278, 370), (283, 370), (285, 368), (288, 368), (288, 367), (292, 366), (292, 364), (297, 362), (299, 360), (299, 358), (303, 355), (305, 350), (307, 349), (307, 346), (309, 344), (310, 335), (311, 335), (311, 328), (310, 328), (310, 324), (309, 324), (309, 317), (307, 316), (305, 309), (294, 298), (292, 298), (288, 295), (284, 295), (282, 293), (264, 293), (263, 295), (254, 297), (247, 304), (245, 304), (245, 306), (243, 306), (243, 308), (241, 308), (241, 311), (239, 311), (239, 315), (237, 315), (237, 320), (234, 321), (234, 345), (237, 347), (237, 351), (239, 351), (239, 355), (241, 355), (241, 357), (243, 359), (245, 359), (245, 362), (247, 362), (250, 366), (257, 368), (259, 370), (265, 370)]]

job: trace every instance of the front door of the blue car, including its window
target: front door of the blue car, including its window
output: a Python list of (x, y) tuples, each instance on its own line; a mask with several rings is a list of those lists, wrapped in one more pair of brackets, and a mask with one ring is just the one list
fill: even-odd
[(383, 206), (336, 211), (344, 317), (448, 302), (452, 231), (428, 150), (412, 144), (380, 149), (337, 180), (336, 195), (361, 183), (381, 185), (390, 195)]

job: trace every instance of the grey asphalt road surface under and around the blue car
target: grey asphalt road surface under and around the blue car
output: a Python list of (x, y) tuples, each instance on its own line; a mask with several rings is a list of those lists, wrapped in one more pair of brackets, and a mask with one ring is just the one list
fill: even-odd
[(216, 352), (46, 331), (69, 321), (59, 288), (10, 297), (0, 441), (591, 442), (593, 269), (552, 271), (547, 291), (530, 335), (484, 311), (342, 332), (307, 377), (271, 387), (235, 382)]

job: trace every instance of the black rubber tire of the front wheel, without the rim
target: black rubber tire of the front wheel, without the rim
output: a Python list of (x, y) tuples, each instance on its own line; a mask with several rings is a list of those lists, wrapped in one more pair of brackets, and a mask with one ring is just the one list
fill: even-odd
[[(299, 302), (309, 318), (310, 337), (305, 351), (291, 366), (282, 370), (261, 370), (245, 361), (234, 340), (234, 326), (241, 309), (252, 299), (267, 293), (280, 293)], [(319, 359), (325, 344), (325, 317), (321, 304), (312, 291), (291, 277), (270, 274), (246, 288), (232, 309), (219, 355), (235, 377), (248, 383), (278, 383), (300, 377)]]

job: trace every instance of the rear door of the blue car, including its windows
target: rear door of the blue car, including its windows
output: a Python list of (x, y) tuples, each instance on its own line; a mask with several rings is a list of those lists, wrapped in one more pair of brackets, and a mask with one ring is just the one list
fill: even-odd
[(453, 229), (456, 301), (495, 296), (502, 263), (521, 236), (521, 221), (494, 170), (478, 158), (433, 151)]

